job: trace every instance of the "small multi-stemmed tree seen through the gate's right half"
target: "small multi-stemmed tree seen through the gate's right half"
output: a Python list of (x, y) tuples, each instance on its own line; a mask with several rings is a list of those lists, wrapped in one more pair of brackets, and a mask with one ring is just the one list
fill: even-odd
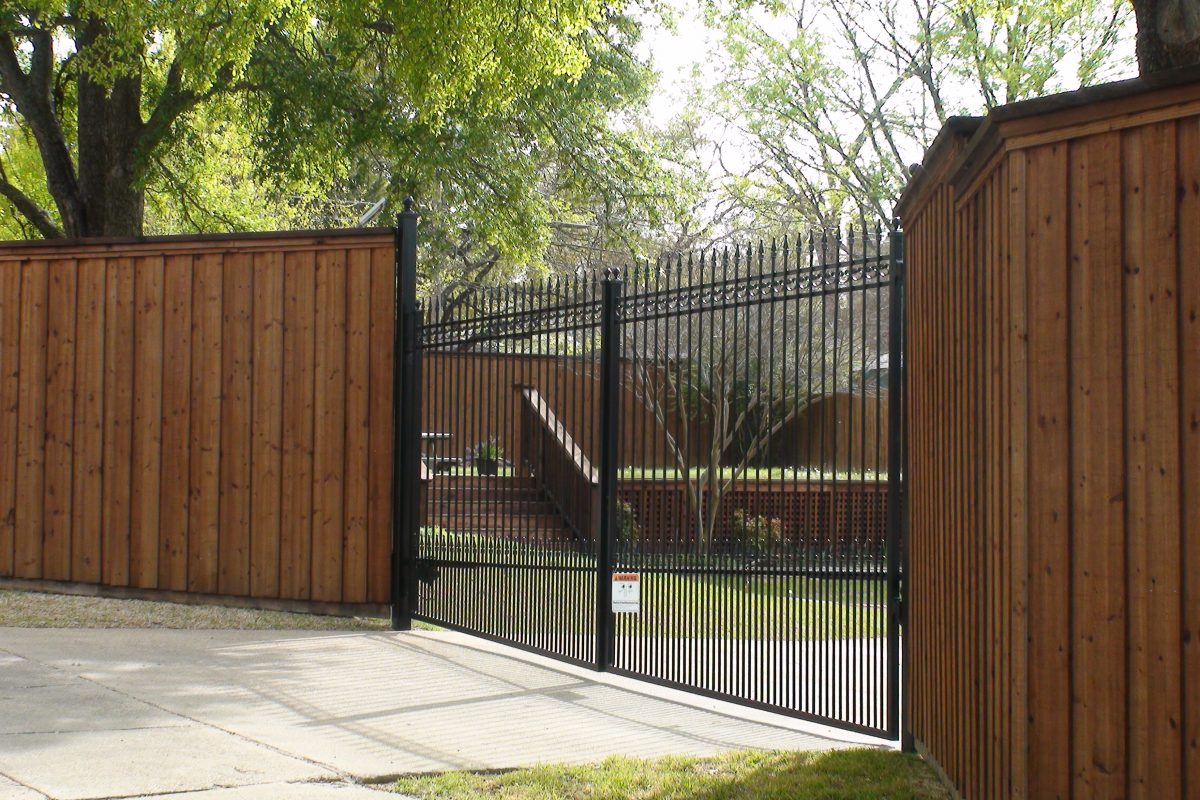
[[(880, 240), (864, 239), (877, 252)], [(862, 276), (821, 266), (833, 264), (838, 252), (838, 246), (824, 254), (810, 248), (814, 266), (792, 267), (793, 279), (811, 276), (826, 288), (827, 279), (841, 287), (860, 283)], [(862, 259), (857, 251), (856, 258)], [(773, 246), (770, 263), (780, 259)], [(635, 273), (629, 294), (636, 302), (644, 290), (640, 283), (650, 279), (659, 287), (730, 285), (736, 277), (750, 281), (770, 272), (766, 263), (761, 247), (709, 253), (686, 265), (676, 263), (670, 278)], [(739, 293), (752, 295), (748, 285), (743, 282), (730, 296), (719, 288), (700, 293), (707, 299), (678, 317), (625, 327), (634, 393), (654, 415), (685, 483), (690, 535), (702, 555), (712, 552), (720, 533), (726, 495), (767, 461), (784, 426), (828, 392), (857, 391), (856, 372), (875, 366), (887, 351), (886, 290), (818, 294), (793, 285), (779, 293), (780, 284), (772, 282), (761, 284), (758, 302), (738, 300)], [(877, 330), (882, 336), (876, 337)]]

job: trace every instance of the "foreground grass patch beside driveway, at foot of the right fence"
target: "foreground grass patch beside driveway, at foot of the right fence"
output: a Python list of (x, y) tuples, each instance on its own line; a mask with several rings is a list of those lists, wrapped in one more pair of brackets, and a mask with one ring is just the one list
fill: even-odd
[(397, 781), (421, 800), (946, 800), (920, 759), (881, 750), (740, 752), (715, 758), (610, 758), (502, 774)]

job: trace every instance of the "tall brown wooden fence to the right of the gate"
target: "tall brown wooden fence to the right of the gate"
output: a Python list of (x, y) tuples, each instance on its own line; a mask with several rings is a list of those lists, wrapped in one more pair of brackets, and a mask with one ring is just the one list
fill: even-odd
[(966, 798), (1200, 796), (1200, 72), (954, 121), (899, 212), (908, 730)]

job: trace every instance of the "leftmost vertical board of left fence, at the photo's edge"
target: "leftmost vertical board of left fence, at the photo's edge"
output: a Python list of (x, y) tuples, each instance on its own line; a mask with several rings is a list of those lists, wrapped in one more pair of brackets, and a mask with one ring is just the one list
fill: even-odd
[(0, 577), (13, 576), (17, 525), (17, 411), (20, 380), (20, 272), (0, 264)]

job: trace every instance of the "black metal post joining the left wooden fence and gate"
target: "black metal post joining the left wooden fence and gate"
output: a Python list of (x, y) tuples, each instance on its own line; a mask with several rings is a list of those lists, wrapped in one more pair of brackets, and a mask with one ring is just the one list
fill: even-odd
[(421, 365), (416, 348), (416, 212), (413, 198), (396, 218), (396, 331), (392, 365), (391, 630), (413, 626), (416, 531), (420, 523)]

